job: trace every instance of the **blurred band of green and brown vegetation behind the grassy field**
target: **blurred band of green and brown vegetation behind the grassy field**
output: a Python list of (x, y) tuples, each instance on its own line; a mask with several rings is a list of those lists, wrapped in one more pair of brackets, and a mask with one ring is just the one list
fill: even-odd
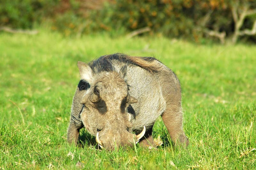
[(0, 30), (256, 42), (255, 0), (1, 0)]

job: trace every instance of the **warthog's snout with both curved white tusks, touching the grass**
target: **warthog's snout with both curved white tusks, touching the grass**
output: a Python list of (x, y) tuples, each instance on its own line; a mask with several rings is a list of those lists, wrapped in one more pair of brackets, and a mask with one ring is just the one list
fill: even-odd
[(132, 133), (126, 132), (124, 134), (111, 134), (100, 136), (100, 132), (96, 135), (96, 142), (100, 148), (114, 149), (119, 146), (132, 146), (137, 144), (140, 139), (144, 136), (146, 132), (145, 126), (143, 127), (142, 132), (139, 135), (134, 135)]

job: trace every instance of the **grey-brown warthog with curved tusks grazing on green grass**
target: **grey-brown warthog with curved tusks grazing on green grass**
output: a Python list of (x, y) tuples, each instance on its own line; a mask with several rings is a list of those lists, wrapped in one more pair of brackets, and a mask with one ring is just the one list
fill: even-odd
[(100, 147), (155, 146), (152, 128), (161, 115), (174, 143), (188, 145), (182, 128), (180, 82), (151, 57), (101, 56), (78, 62), (81, 80), (71, 108), (68, 142), (77, 143), (83, 127)]

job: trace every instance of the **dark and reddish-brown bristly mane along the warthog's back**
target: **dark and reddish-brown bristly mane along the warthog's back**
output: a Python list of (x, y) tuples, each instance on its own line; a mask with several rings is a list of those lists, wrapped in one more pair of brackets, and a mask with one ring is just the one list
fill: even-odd
[(153, 57), (132, 57), (122, 53), (115, 53), (110, 55), (101, 56), (89, 63), (93, 71), (115, 71), (113, 67), (113, 60), (118, 60), (122, 63), (139, 66), (151, 73), (158, 72), (160, 66), (154, 63), (158, 61)]

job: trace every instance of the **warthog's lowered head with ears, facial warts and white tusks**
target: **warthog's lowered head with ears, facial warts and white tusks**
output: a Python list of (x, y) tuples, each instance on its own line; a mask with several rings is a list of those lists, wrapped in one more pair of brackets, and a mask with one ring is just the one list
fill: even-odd
[(126, 66), (116, 71), (94, 73), (90, 66), (78, 62), (81, 79), (90, 84), (82, 97), (80, 118), (85, 128), (96, 136), (100, 147), (113, 149), (119, 146), (132, 146), (144, 134), (134, 135), (127, 107), (138, 100), (129, 95), (129, 86), (124, 81)]

